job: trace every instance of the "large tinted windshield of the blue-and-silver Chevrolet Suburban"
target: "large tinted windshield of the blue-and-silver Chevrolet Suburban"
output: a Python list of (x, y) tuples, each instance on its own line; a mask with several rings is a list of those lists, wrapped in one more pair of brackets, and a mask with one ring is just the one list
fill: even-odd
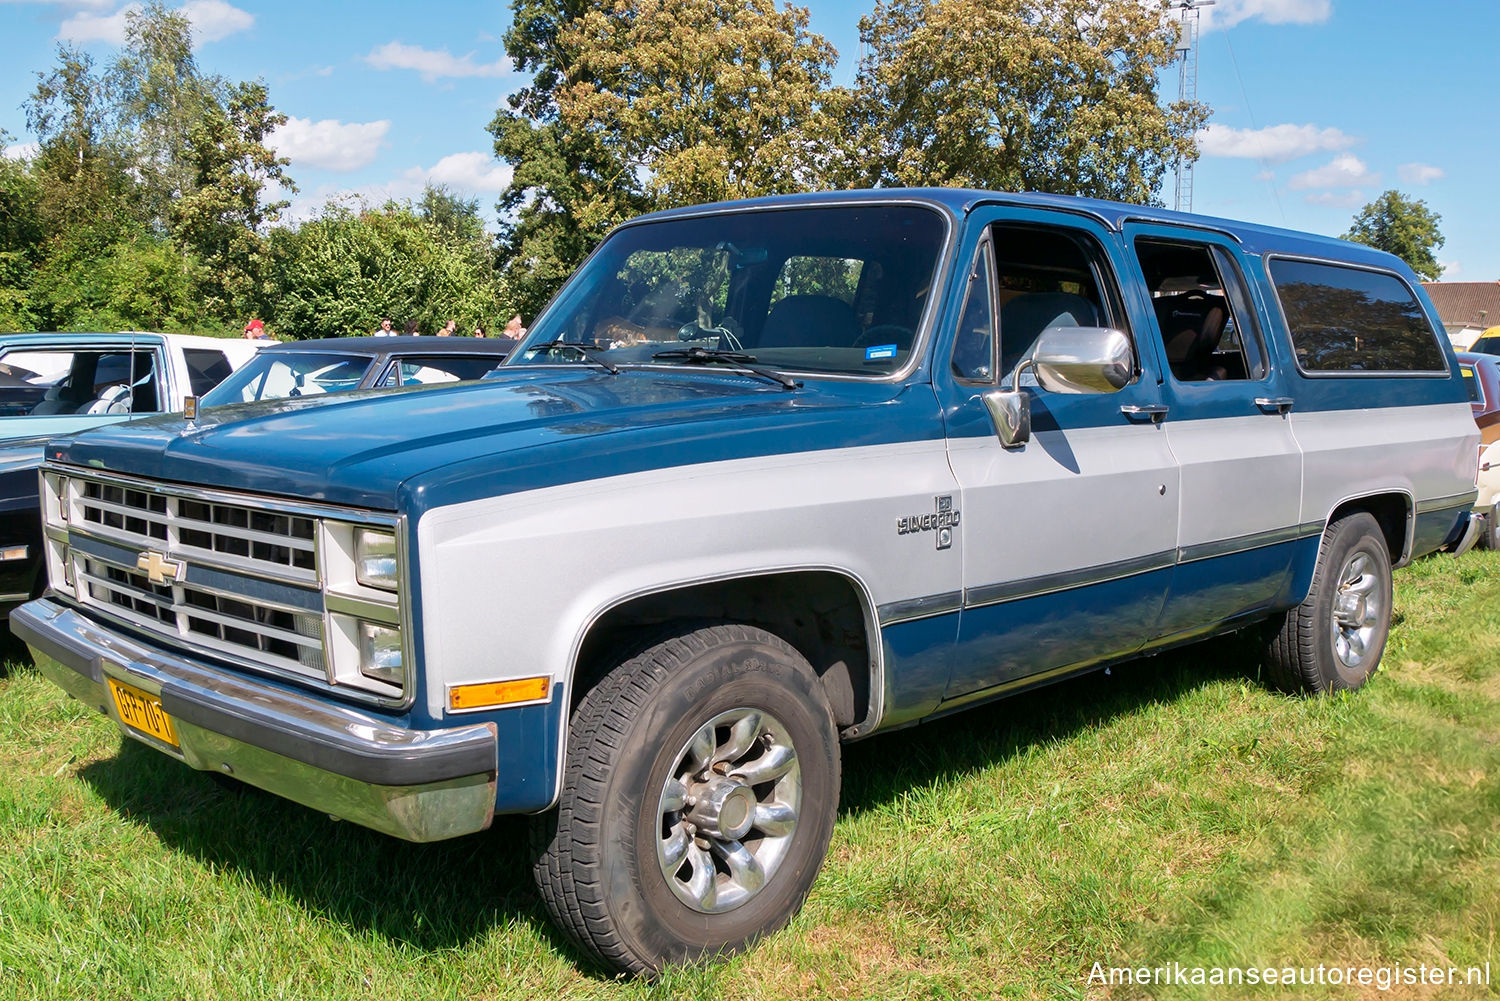
[(627, 227), (568, 282), (510, 363), (681, 363), (652, 356), (698, 347), (748, 353), (777, 369), (886, 375), (912, 350), (944, 237), (942, 216), (921, 206)]

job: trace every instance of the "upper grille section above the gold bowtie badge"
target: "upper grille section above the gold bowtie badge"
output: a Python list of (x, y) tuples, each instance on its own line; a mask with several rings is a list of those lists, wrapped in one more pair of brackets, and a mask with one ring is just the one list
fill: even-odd
[(80, 480), (78, 485), (75, 516), (90, 534), (279, 581), (318, 581), (314, 542), (318, 522), (314, 518), (99, 480)]

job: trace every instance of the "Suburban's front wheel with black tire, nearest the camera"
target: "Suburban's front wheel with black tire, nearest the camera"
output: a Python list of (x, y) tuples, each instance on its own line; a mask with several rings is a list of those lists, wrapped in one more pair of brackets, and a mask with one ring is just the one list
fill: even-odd
[[(718, 735), (728, 740), (720, 744)], [(712, 753), (694, 756), (702, 746), (694, 738), (711, 740)], [(736, 750), (741, 744), (747, 750)], [(788, 749), (796, 767), (772, 774), (786, 767)], [(684, 762), (692, 768), (694, 761), (716, 761), (720, 750), (735, 753), (692, 776), (682, 771)], [(676, 776), (684, 782), (669, 785)], [(788, 830), (777, 797), (789, 795), (794, 782)], [(693, 795), (672, 810), (678, 788)], [(573, 942), (614, 969), (651, 974), (735, 953), (782, 927), (818, 876), (837, 809), (838, 734), (807, 660), (762, 629), (684, 629), (584, 696), (568, 734), (558, 809), (538, 818), (543, 836), (532, 873)], [(778, 824), (770, 822), (772, 810), (783, 810)], [(756, 855), (752, 870), (740, 869), (742, 882), (722, 854), (734, 846)], [(684, 855), (669, 876), (676, 848), (693, 857)], [(753, 870), (764, 873), (764, 884), (747, 890)], [(705, 878), (690, 876), (700, 872), (717, 873), (706, 878), (711, 899), (693, 896)], [(732, 903), (735, 894), (748, 896)], [(705, 899), (728, 909), (704, 911)]]

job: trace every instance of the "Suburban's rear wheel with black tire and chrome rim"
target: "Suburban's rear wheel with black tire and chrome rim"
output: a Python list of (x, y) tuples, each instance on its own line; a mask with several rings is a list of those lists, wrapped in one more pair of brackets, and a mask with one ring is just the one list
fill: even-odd
[(1323, 530), (1306, 600), (1274, 623), (1270, 683), (1293, 695), (1358, 689), (1390, 633), (1390, 551), (1380, 524), (1346, 515)]

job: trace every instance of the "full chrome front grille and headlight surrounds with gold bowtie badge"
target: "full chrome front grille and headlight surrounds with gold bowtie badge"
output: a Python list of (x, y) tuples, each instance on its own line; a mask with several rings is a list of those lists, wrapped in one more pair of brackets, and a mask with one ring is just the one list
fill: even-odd
[[(411, 677), (366, 669), (364, 623), (406, 632), (402, 591), (362, 585), (357, 533), (390, 515), (48, 465), (48, 575), (86, 609), (171, 645), (378, 705)], [(402, 665), (411, 651), (404, 645)]]

